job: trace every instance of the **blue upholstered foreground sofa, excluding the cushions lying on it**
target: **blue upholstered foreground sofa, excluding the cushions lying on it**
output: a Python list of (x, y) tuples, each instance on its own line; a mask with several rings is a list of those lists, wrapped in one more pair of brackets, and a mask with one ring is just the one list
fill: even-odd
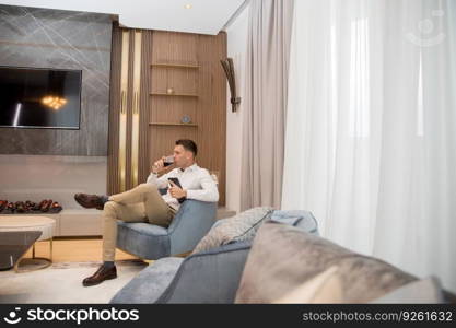
[[(276, 211), (281, 223), (318, 235), (307, 211)], [(230, 219), (225, 219), (230, 220)], [(187, 258), (153, 262), (125, 285), (110, 303), (233, 303), (253, 239), (223, 245)]]

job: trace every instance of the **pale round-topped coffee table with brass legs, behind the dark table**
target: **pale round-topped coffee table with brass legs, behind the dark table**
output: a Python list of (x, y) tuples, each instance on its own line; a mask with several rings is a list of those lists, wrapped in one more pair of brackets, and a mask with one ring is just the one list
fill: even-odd
[[(32, 244), (32, 259), (24, 259), (23, 256), (26, 251), (16, 260), (14, 270), (16, 272), (27, 272), (39, 270), (49, 267), (52, 263), (52, 237), (54, 227), (56, 221), (46, 216), (0, 216), (0, 232), (40, 232), (40, 236), (36, 241), (49, 242), (49, 258), (35, 257), (35, 243)], [(21, 244), (21, 243), (20, 243)], [(30, 247), (28, 247), (30, 248)], [(24, 268), (27, 262), (34, 262), (33, 269)]]

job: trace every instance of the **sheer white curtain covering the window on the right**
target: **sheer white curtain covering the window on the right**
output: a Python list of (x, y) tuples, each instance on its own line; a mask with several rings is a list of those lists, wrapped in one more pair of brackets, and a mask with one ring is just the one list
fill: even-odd
[(456, 291), (456, 5), (299, 0), (283, 209)]

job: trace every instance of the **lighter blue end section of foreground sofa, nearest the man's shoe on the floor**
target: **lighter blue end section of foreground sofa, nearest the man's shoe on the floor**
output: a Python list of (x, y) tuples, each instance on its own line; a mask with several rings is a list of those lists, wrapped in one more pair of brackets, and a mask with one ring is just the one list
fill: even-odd
[(114, 295), (110, 303), (154, 303), (166, 290), (183, 261), (183, 258), (177, 257), (154, 261)]

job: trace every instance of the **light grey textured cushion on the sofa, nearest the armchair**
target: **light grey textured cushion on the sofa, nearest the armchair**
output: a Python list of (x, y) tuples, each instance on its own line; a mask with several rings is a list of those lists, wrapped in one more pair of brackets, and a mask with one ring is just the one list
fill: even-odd
[(252, 239), (260, 223), (269, 218), (272, 211), (272, 208), (267, 207), (253, 208), (233, 218), (219, 220), (198, 243), (192, 254), (234, 242)]

